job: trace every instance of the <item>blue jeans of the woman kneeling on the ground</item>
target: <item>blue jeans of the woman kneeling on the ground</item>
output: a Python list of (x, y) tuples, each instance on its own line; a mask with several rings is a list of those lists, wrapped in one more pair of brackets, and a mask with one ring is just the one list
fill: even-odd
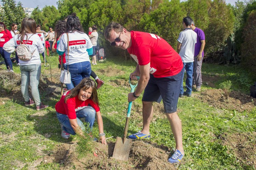
[[(75, 131), (71, 127), (71, 124), (69, 122), (69, 118), (67, 115), (61, 114), (56, 112), (57, 118), (60, 122), (60, 124), (63, 125), (63, 130), (66, 131), (67, 133), (71, 135), (75, 135)], [(91, 106), (87, 106), (79, 111), (76, 111), (76, 121), (77, 124), (80, 126), (80, 128), (85, 131), (85, 126), (82, 123), (80, 119), (85, 118), (85, 122), (89, 123), (89, 128), (92, 130), (93, 129), (93, 124), (95, 121), (95, 109)]]

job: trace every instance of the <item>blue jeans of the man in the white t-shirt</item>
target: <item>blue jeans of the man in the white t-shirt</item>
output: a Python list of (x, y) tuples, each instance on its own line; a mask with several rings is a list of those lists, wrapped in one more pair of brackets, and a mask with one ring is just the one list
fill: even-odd
[[(187, 73), (187, 79), (186, 79), (186, 94), (192, 93), (192, 82), (193, 82), (193, 62), (190, 63), (183, 63), (183, 75), (182, 75), (182, 81), (184, 77), (184, 70), (186, 70)], [(181, 83), (181, 89), (180, 89), (180, 95), (183, 95), (184, 89), (183, 89), (183, 83)]]

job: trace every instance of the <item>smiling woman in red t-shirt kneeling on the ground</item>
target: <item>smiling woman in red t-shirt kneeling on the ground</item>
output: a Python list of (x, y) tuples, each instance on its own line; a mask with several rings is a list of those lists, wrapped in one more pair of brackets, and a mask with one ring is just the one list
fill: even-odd
[(106, 143), (103, 132), (103, 121), (100, 113), (96, 84), (90, 78), (84, 78), (75, 88), (65, 92), (60, 101), (55, 105), (57, 118), (61, 126), (61, 136), (68, 139), (71, 135), (79, 134), (83, 136), (85, 126), (81, 118), (89, 123), (89, 128), (93, 129), (95, 115), (99, 125), (99, 141)]

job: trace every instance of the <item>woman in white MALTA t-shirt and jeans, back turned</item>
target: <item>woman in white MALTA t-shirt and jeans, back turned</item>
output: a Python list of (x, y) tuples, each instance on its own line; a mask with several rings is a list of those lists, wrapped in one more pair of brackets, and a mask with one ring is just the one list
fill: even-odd
[(57, 53), (59, 55), (66, 54), (66, 68), (64, 69), (69, 70), (71, 81), (74, 86), (77, 86), (82, 79), (90, 77), (91, 64), (89, 55), (93, 53), (93, 45), (88, 35), (84, 33), (78, 17), (68, 17), (66, 26), (66, 33), (60, 38)]

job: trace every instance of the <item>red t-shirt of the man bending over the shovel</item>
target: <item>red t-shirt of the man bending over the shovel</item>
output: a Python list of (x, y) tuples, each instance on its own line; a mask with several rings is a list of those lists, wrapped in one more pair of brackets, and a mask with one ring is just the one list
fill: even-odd
[(150, 63), (150, 73), (155, 78), (173, 76), (182, 70), (181, 56), (163, 38), (131, 31), (131, 42), (127, 51), (140, 66)]

